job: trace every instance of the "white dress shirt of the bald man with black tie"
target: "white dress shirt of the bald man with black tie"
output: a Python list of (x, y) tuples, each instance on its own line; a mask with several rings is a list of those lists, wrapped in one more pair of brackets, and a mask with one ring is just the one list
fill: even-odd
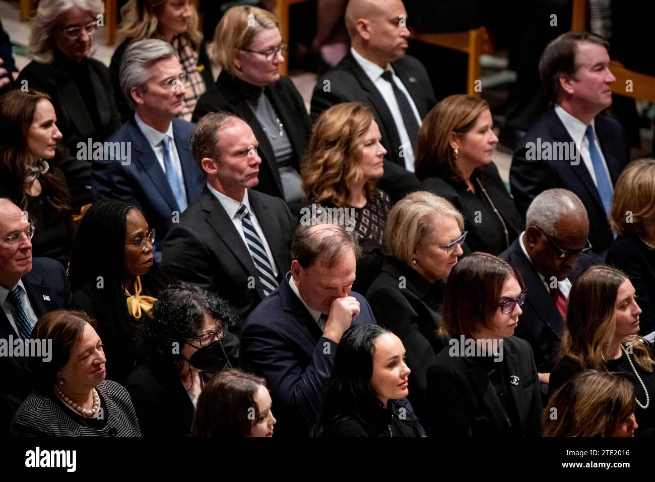
[[(416, 120), (419, 123), (419, 127), (421, 127), (421, 116), (419, 115), (419, 110), (417, 110), (416, 105), (414, 104), (414, 100), (411, 98), (411, 95), (409, 95), (409, 92), (407, 92), (407, 89), (405, 89), (405, 85), (403, 85), (402, 81), (396, 77), (396, 73), (394, 72), (391, 64), (386, 64), (386, 68), (383, 69), (370, 60), (366, 60), (352, 47), (350, 47), (350, 52), (352, 53), (352, 56), (355, 58), (356, 62), (360, 64), (360, 67), (362, 70), (364, 70), (364, 73), (368, 76), (369, 79), (371, 79), (373, 85), (375, 85), (377, 90), (379, 90), (382, 98), (384, 99), (384, 102), (386, 102), (386, 106), (391, 111), (391, 115), (394, 118), (394, 123), (396, 124), (396, 129), (398, 129), (398, 134), (400, 135), (400, 143), (403, 146), (403, 154), (405, 156), (405, 169), (407, 169), (409, 172), (414, 172), (414, 150), (411, 146), (411, 141), (409, 140), (409, 134), (407, 134), (405, 121), (403, 121), (403, 116), (400, 113), (400, 108), (398, 107), (398, 100), (396, 100), (394, 88), (391, 87), (390, 83), (382, 78), (384, 71), (391, 71), (394, 83), (396, 83), (398, 89), (400, 89), (403, 94), (407, 96), (411, 110), (413, 111)], [(398, 149), (399, 147), (400, 146), (391, 146), (392, 149)]]

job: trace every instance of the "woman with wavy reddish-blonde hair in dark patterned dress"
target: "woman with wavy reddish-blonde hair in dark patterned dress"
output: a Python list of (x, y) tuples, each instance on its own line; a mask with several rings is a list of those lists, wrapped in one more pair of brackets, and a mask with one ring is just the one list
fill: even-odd
[(341, 222), (363, 251), (353, 289), (365, 292), (382, 266), (384, 224), (393, 205), (377, 188), (386, 150), (373, 113), (357, 102), (329, 108), (316, 119), (308, 151), (302, 176), (309, 207), (343, 210)]

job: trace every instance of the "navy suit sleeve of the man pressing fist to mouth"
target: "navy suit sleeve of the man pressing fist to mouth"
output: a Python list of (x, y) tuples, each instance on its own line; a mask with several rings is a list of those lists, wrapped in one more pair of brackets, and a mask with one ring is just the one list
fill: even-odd
[(321, 337), (312, 352), (312, 361), (303, 367), (289, 349), (284, 334), (263, 323), (246, 323), (241, 348), (248, 367), (266, 378), (284, 408), (308, 424), (313, 423), (334, 367), (337, 344)]

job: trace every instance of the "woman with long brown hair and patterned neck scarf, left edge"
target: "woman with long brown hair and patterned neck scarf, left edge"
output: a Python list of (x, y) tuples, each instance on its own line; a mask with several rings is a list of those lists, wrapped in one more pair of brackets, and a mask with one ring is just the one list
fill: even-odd
[(47, 94), (16, 89), (0, 97), (0, 196), (27, 211), (33, 256), (55, 259), (67, 268), (75, 232), (71, 197), (57, 167), (62, 133), (56, 123)]

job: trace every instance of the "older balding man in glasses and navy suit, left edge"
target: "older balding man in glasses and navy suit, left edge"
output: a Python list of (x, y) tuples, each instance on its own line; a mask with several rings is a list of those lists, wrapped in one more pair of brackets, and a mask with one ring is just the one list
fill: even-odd
[[(48, 311), (69, 308), (70, 285), (62, 265), (32, 258), (35, 227), (9, 199), (0, 198), (0, 339), (28, 339), (37, 319)], [(33, 390), (28, 359), (0, 356), (0, 435), (20, 402)]]

